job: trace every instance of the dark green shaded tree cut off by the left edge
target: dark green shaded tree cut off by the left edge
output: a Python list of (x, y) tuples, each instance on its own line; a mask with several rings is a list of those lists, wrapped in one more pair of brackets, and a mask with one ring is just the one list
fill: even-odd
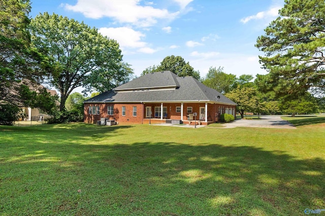
[(47, 59), (29, 46), (29, 11), (28, 0), (0, 0), (0, 108), (11, 120), (20, 106), (36, 106), (37, 92), (44, 93), (37, 87), (49, 69)]

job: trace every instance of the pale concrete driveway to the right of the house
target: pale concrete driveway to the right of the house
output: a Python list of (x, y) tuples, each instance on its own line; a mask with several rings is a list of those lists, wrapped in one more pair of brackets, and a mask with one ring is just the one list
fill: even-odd
[(222, 128), (232, 127), (268, 127), (268, 128), (285, 128), (296, 129), (296, 127), (288, 121), (281, 118), (280, 115), (261, 115), (261, 119), (247, 120), (240, 119), (230, 123), (224, 123)]

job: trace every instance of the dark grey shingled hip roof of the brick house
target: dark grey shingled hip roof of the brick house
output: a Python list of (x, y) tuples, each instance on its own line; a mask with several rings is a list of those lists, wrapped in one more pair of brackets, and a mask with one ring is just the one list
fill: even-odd
[(199, 101), (236, 105), (235, 102), (218, 91), (206, 87), (193, 77), (179, 77), (171, 71), (146, 74), (109, 92), (90, 98), (84, 103)]

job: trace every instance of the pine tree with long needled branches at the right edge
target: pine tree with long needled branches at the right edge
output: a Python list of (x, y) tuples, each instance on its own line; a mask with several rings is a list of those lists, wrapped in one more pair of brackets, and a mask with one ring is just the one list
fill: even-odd
[(255, 46), (266, 54), (259, 57), (269, 71), (266, 83), (277, 96), (324, 89), (324, 11), (324, 0), (285, 0), (280, 17), (257, 38)]

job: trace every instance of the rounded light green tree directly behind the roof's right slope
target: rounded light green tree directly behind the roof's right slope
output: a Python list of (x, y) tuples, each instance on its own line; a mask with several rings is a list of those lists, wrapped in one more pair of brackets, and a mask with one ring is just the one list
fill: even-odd
[(223, 67), (211, 66), (202, 83), (221, 94), (225, 94), (232, 90), (236, 83), (236, 75), (223, 72)]

